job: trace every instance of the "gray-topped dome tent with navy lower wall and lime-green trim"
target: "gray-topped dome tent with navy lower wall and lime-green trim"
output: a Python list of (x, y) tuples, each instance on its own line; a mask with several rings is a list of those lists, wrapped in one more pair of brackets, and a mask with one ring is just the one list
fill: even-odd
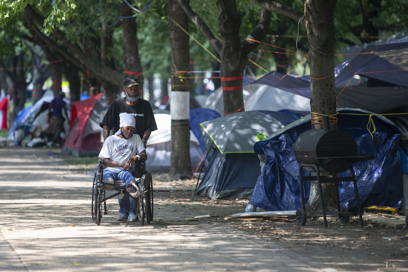
[(213, 155), (196, 194), (211, 199), (249, 198), (261, 170), (253, 146), (264, 135), (283, 128), (284, 124), (266, 113), (245, 111), (200, 126), (206, 150)]

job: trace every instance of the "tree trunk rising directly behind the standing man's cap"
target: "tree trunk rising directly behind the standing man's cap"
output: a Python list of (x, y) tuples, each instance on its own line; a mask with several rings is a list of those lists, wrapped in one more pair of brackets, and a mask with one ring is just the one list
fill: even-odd
[[(129, 6), (122, 2), (122, 16), (131, 16), (133, 12)], [(137, 41), (137, 25), (136, 18), (123, 19), (123, 58), (125, 64), (125, 73), (127, 77), (136, 77), (139, 82), (139, 95), (143, 97), (143, 74), (142, 65), (140, 64), (140, 56)]]

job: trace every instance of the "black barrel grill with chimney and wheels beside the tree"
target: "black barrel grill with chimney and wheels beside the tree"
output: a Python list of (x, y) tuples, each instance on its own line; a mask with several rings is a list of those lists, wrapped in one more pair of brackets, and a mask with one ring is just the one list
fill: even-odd
[[(296, 160), (300, 165), (299, 181), (302, 199), (302, 208), (298, 209), (295, 215), (297, 224), (303, 226), (306, 223), (303, 181), (317, 181), (323, 220), (326, 227), (326, 214), (330, 216), (338, 215), (341, 223), (347, 223), (350, 220), (350, 214), (357, 214), (348, 212), (346, 207), (340, 207), (338, 183), (353, 182), (360, 224), (364, 226), (353, 164), (357, 161), (375, 159), (375, 156), (357, 154), (357, 144), (353, 137), (341, 129), (330, 130), (328, 116), (323, 117), (323, 129), (307, 130), (297, 138), (294, 151)], [(317, 175), (316, 177), (303, 176), (302, 169), (309, 172), (316, 172)], [(345, 172), (348, 169), (351, 171), (351, 177), (337, 177), (337, 174)], [(329, 173), (334, 177), (321, 176), (320, 173), (322, 172)], [(335, 184), (337, 211), (326, 211), (324, 208), (322, 183), (328, 182)]]

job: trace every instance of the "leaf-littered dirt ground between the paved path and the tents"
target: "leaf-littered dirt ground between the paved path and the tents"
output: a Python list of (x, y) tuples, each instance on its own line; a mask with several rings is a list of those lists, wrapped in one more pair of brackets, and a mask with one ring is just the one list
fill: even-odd
[[(27, 152), (32, 152), (35, 156), (35, 150), (29, 149)], [(49, 150), (48, 155), (60, 157), (58, 150)], [(66, 162), (61, 161), (61, 164)], [(91, 168), (78, 166), (69, 168), (72, 172), (83, 172), (89, 176), (95, 172)], [(197, 182), (196, 179), (173, 180), (166, 173), (153, 173), (153, 178), (155, 188), (195, 188)], [(224, 217), (244, 212), (248, 200), (211, 200), (194, 196), (191, 189), (155, 191), (154, 197), (158, 204), (177, 207), (173, 208), (173, 212), (181, 214), (180, 222), (185, 222), (185, 218), (191, 217), (192, 214), (210, 215), (210, 218), (200, 219), (202, 223), (243, 232), (258, 239), (259, 243), (272, 241), (281, 248), (306, 254), (311, 260), (333, 269), (408, 271), (408, 239), (404, 239), (407, 234), (406, 228), (390, 228), (371, 221), (365, 221), (365, 227), (361, 227), (357, 217), (352, 217), (347, 225), (342, 225), (336, 219), (329, 219), (328, 228), (324, 228), (322, 219), (308, 220), (306, 225), (301, 227), (295, 222), (230, 221)], [(164, 207), (163, 205), (156, 207), (160, 209)], [(155, 217), (154, 223), (160, 227), (165, 220)], [(163, 227), (166, 227), (165, 224)]]

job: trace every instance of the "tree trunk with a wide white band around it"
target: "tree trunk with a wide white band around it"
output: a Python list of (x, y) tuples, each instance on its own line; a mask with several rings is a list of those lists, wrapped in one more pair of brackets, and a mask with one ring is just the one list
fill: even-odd
[[(190, 161), (190, 92), (189, 80), (182, 79), (190, 70), (190, 47), (188, 35), (180, 29), (188, 31), (188, 16), (177, 0), (168, 2), (169, 33), (171, 45), (171, 57), (173, 60), (171, 76), (171, 175), (191, 175)], [(173, 20), (171, 20), (173, 19)], [(175, 24), (177, 22), (177, 24)], [(181, 71), (181, 72), (179, 72)]]

